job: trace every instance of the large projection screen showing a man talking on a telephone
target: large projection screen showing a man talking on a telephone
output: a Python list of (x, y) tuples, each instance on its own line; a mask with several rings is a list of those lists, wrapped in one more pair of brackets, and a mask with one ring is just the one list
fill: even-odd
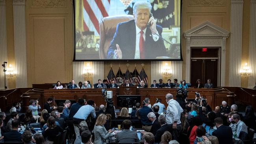
[[(74, 61), (182, 61), (181, 0), (133, 0), (128, 7), (121, 1), (73, 0)], [(156, 29), (145, 9), (133, 13), (137, 1), (152, 6)]]

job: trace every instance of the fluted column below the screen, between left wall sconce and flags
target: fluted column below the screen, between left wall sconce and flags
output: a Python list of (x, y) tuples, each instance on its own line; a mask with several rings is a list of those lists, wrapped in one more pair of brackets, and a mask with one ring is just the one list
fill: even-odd
[(104, 78), (104, 62), (103, 61), (93, 61), (93, 86), (94, 83), (98, 83), (98, 79), (101, 79), (101, 82)]

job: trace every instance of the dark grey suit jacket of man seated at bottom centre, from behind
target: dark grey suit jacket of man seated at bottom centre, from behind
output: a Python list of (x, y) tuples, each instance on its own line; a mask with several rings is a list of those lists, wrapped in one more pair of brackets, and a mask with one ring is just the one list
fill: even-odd
[(135, 131), (130, 131), (130, 129), (124, 129), (123, 131), (117, 133), (117, 143), (131, 143), (139, 142), (139, 138)]

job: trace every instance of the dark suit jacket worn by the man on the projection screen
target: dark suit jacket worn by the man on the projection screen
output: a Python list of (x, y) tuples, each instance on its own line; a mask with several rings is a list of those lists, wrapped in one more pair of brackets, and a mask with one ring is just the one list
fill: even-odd
[[(156, 25), (156, 30), (161, 36), (162, 27)], [(128, 22), (121, 22), (117, 24), (117, 29), (113, 40), (110, 42), (108, 48), (108, 59), (113, 59), (114, 51), (117, 49), (116, 44), (122, 51), (122, 59), (134, 59), (135, 55), (135, 43), (136, 43), (136, 26), (135, 20), (130, 20)], [(147, 26), (145, 33), (145, 59), (156, 59), (159, 56), (166, 55), (166, 48), (161, 38), (158, 41), (154, 41), (152, 38), (152, 33)]]

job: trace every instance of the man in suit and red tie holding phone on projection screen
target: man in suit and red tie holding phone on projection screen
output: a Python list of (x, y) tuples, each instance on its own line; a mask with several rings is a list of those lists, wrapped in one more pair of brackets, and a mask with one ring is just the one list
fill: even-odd
[(107, 52), (108, 59), (156, 59), (166, 55), (163, 40), (158, 36), (161, 36), (162, 27), (150, 17), (151, 9), (148, 2), (135, 2), (134, 20), (117, 24)]

